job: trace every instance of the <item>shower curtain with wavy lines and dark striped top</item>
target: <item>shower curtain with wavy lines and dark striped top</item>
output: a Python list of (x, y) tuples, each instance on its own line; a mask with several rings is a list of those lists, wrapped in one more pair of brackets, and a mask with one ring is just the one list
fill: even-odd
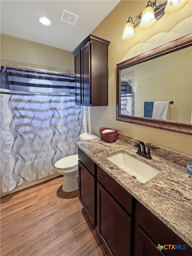
[(74, 76), (1, 67), (1, 186), (3, 192), (55, 173), (59, 159), (77, 154), (87, 131), (75, 105)]

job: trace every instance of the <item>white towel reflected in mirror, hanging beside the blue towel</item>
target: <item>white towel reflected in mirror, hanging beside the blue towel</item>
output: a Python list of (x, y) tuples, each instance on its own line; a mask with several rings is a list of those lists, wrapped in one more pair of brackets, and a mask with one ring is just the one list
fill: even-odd
[(169, 120), (169, 101), (155, 101), (152, 118)]

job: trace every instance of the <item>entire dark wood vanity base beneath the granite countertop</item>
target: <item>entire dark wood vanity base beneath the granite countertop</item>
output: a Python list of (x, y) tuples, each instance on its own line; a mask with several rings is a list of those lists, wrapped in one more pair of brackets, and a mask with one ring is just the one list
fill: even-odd
[[(78, 155), (79, 199), (112, 256), (192, 255), (191, 247), (87, 155), (81, 150)], [(158, 244), (179, 247), (160, 251)]]

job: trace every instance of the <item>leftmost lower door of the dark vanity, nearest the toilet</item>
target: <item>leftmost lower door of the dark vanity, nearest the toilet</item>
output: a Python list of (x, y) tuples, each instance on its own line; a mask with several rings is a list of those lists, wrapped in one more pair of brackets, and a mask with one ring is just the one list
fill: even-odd
[(80, 162), (78, 162), (78, 175), (79, 200), (95, 227), (95, 178)]

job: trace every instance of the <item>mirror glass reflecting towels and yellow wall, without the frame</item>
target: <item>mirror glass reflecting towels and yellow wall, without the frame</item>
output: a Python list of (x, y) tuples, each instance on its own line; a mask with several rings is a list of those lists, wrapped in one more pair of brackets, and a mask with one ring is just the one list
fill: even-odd
[(121, 69), (120, 114), (191, 123), (191, 70), (192, 47)]

